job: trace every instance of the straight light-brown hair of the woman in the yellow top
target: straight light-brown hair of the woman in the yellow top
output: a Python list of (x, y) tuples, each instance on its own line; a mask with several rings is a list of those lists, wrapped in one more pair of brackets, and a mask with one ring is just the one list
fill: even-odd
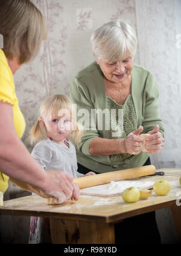
[(47, 38), (45, 19), (30, 0), (0, 0), (0, 34), (5, 56), (17, 55), (19, 64), (24, 64), (37, 55)]

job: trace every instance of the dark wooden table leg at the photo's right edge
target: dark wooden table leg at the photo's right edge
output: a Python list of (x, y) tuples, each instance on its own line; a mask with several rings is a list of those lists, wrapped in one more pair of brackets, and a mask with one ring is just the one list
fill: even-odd
[(170, 209), (174, 218), (177, 235), (181, 243), (181, 205), (177, 205), (176, 202), (174, 202)]

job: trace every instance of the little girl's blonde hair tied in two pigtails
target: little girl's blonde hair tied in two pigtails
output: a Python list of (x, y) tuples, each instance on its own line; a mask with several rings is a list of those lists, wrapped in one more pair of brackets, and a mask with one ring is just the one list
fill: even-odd
[(38, 142), (48, 137), (46, 135), (45, 129), (40, 125), (40, 119), (47, 116), (48, 114), (50, 118), (57, 117), (60, 116), (60, 113), (61, 116), (63, 114), (69, 114), (72, 119), (72, 143), (77, 145), (80, 142), (84, 128), (76, 120), (77, 113), (75, 113), (74, 105), (65, 95), (56, 94), (48, 96), (43, 100), (39, 109), (39, 119), (36, 121), (30, 131), (31, 143)]

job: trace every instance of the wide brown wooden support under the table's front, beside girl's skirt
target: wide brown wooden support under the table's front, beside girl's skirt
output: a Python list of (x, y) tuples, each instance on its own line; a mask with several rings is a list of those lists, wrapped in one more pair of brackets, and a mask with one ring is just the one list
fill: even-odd
[(52, 243), (115, 243), (113, 223), (50, 218)]

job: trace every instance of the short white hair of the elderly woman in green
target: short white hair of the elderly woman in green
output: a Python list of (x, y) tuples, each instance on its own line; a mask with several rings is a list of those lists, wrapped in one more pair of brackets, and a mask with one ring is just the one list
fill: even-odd
[(116, 19), (107, 22), (92, 33), (90, 38), (92, 53), (100, 61), (120, 61), (129, 50), (133, 56), (136, 53), (138, 41), (133, 27), (128, 21)]

